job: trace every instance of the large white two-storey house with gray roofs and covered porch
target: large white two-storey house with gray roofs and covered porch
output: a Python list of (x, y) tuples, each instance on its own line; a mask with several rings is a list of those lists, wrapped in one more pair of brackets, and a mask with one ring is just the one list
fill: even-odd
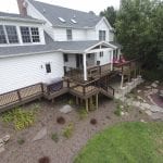
[[(108, 78), (121, 46), (105, 17), (34, 0), (17, 3), (20, 15), (0, 12), (0, 95), (62, 78), (68, 88), (77, 83), (77, 91)], [(108, 90), (108, 84), (100, 87)]]

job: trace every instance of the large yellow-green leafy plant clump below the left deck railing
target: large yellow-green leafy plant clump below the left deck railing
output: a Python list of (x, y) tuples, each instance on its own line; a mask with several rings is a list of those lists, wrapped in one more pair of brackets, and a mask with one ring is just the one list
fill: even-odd
[(8, 111), (2, 114), (2, 121), (12, 123), (16, 130), (24, 129), (35, 122), (35, 111), (27, 111), (21, 108)]

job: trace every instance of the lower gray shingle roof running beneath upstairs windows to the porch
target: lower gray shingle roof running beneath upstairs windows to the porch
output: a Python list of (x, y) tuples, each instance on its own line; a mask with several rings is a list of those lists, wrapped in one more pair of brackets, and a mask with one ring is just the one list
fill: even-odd
[(46, 45), (0, 47), (0, 58), (14, 57), (18, 54), (26, 55), (34, 53), (46, 53), (52, 51), (84, 52), (86, 49), (100, 42), (98, 40), (53, 41), (47, 34), (45, 36)]

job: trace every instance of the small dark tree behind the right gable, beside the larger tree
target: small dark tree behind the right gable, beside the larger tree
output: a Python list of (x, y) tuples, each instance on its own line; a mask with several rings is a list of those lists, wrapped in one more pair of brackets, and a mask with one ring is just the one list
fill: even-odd
[(116, 20), (116, 11), (113, 7), (108, 7), (106, 10), (100, 12), (100, 16), (105, 16), (112, 27), (114, 27)]

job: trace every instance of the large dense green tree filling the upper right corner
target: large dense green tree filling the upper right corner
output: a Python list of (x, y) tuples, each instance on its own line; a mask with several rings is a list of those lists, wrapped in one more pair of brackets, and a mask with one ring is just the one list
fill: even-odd
[(126, 57), (143, 58), (148, 68), (158, 66), (163, 51), (161, 0), (122, 0), (115, 28)]

